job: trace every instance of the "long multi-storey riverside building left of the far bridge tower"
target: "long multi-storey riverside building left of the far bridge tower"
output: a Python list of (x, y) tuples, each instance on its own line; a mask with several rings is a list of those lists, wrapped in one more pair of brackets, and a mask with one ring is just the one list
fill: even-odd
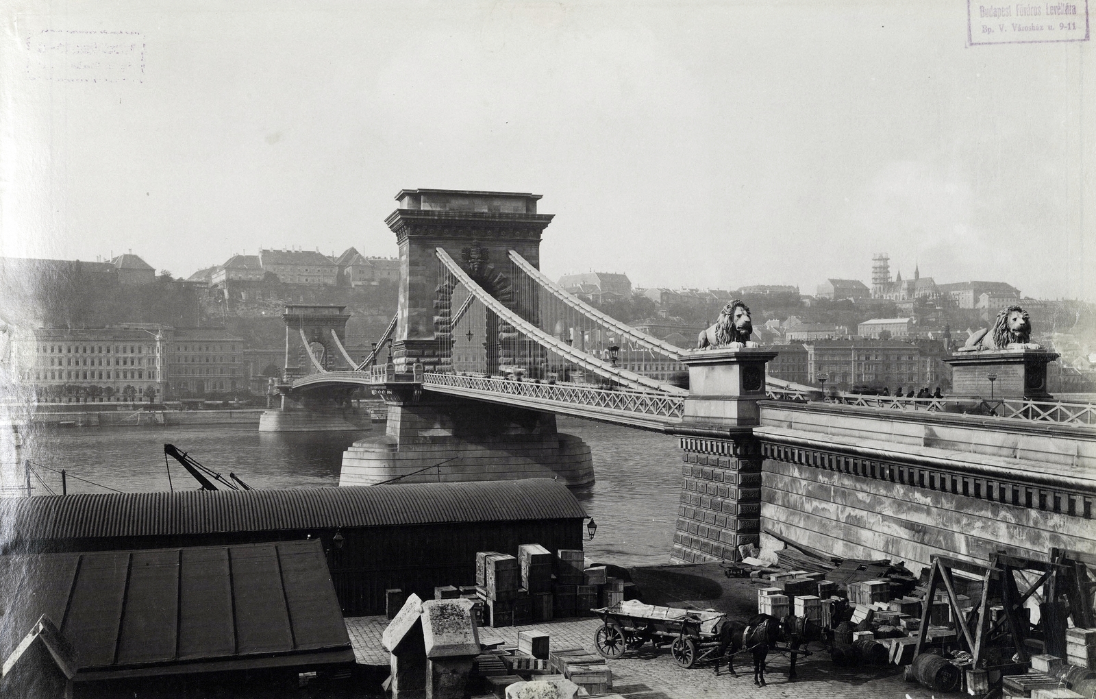
[(224, 330), (139, 323), (38, 328), (18, 344), (16, 375), (44, 401), (162, 401), (247, 383), (243, 341)]

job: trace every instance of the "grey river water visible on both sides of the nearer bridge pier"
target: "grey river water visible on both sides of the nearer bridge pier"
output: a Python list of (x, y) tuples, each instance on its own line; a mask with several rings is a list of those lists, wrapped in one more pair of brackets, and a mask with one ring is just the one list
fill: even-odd
[[(253, 488), (321, 488), (339, 484), (342, 452), (373, 433), (260, 434), (250, 427), (84, 427), (38, 432), (25, 457), (71, 477), (126, 492), (195, 489), (174, 459), (164, 465), (163, 444), (174, 444), (225, 477), (235, 472)], [(586, 555), (626, 565), (667, 563), (681, 494), (681, 450), (663, 434), (559, 419), (559, 431), (590, 445), (597, 482), (576, 491), (597, 522)], [(60, 477), (38, 469), (60, 492)], [(34, 481), (35, 494), (45, 493)], [(69, 478), (69, 492), (107, 492)]]

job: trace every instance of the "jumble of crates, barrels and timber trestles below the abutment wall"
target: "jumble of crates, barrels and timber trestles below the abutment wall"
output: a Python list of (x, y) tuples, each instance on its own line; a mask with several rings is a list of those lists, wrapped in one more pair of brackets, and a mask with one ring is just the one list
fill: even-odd
[(1060, 550), (1049, 561), (998, 554), (989, 566), (934, 557), (917, 578), (889, 560), (789, 548), (778, 565), (746, 555), (723, 569), (763, 585), (760, 614), (819, 629), (834, 664), (905, 666), (906, 679), (938, 692), (1065, 699), (1096, 697), (1093, 564)]

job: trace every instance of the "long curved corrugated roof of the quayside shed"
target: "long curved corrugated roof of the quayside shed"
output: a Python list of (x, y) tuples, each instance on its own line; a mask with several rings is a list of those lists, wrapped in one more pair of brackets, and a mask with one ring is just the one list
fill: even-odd
[(572, 519), (585, 512), (548, 479), (255, 491), (8, 499), (15, 539), (144, 537), (335, 527)]

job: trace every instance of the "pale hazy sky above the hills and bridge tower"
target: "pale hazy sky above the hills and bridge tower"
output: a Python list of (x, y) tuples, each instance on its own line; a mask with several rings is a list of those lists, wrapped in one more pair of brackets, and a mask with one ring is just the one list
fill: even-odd
[(396, 255), (401, 188), (488, 190), (544, 195), (552, 277), (813, 294), (887, 253), (1096, 301), (1092, 42), (968, 45), (961, 0), (7, 7), (4, 255)]

